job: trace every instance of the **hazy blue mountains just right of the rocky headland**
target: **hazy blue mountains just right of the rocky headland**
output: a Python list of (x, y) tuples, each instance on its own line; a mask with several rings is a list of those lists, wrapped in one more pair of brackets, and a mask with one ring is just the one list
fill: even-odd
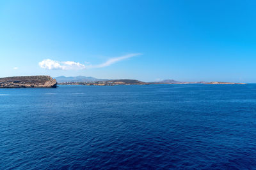
[(65, 83), (65, 82), (88, 82), (88, 81), (106, 81), (108, 79), (98, 79), (94, 77), (86, 77), (86, 76), (58, 76), (55, 78), (58, 83)]

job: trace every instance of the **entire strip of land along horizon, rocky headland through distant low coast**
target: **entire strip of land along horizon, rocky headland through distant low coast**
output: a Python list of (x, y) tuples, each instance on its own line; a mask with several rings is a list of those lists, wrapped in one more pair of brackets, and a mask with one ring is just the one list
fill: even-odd
[(149, 85), (149, 84), (244, 84), (244, 83), (230, 83), (220, 81), (176, 81), (176, 80), (163, 80), (154, 82), (143, 82), (131, 79), (97, 79), (93, 77), (65, 77), (60, 76), (51, 78), (51, 76), (14, 76), (0, 78), (0, 88), (21, 88), (21, 87), (57, 87), (57, 82), (60, 85)]

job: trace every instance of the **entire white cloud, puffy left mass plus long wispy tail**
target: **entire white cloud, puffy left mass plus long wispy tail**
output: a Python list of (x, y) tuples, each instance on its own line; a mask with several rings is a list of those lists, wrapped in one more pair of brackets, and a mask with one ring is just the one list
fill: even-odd
[[(101, 67), (108, 67), (112, 64), (115, 64), (116, 62), (119, 62), (121, 60), (129, 59), (131, 57), (135, 57), (137, 55), (141, 55), (141, 53), (130, 53), (127, 55), (123, 55), (121, 57), (114, 57), (111, 59), (108, 59), (106, 62), (102, 64), (97, 65), (88, 65), (85, 66), (84, 64), (81, 64), (79, 62), (74, 61), (56, 61), (51, 59), (45, 59), (38, 63), (38, 65), (43, 69), (63, 69), (63, 70), (74, 70), (74, 69), (92, 69), (92, 68), (101, 68)], [(86, 64), (90, 62), (85, 62)]]

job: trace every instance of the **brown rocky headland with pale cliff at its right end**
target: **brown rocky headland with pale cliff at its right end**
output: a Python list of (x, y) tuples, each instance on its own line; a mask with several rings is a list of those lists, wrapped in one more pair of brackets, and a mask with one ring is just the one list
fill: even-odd
[(57, 87), (51, 76), (17, 76), (0, 78), (0, 88)]

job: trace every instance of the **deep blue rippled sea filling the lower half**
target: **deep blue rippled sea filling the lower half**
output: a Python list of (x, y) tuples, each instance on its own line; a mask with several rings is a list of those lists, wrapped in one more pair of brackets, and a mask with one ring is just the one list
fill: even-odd
[(256, 169), (256, 85), (0, 89), (0, 169)]

